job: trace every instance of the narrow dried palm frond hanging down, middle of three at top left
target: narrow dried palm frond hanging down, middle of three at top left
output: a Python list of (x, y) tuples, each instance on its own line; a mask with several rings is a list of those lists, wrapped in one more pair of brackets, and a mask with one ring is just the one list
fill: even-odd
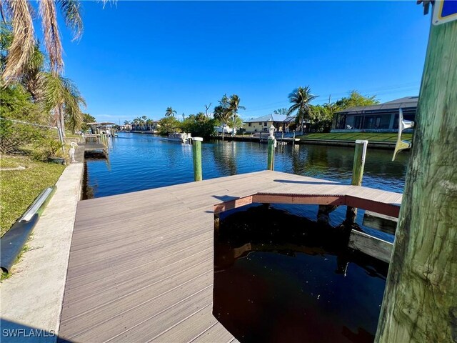
[(57, 24), (56, 3), (54, 0), (41, 0), (39, 4), (44, 46), (46, 46), (46, 51), (49, 54), (51, 70), (62, 71), (64, 60), (62, 59), (62, 44), (59, 36), (59, 25)]

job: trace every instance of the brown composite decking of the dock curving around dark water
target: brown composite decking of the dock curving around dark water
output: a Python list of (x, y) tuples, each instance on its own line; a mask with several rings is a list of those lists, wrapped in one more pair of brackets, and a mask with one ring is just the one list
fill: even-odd
[(268, 171), (79, 202), (59, 337), (233, 341), (211, 314), (214, 205), (259, 192), (401, 202), (401, 194)]

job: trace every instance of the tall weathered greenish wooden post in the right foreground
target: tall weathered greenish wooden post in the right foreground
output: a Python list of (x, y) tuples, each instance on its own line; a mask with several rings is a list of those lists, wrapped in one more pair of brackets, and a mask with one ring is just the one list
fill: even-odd
[(457, 21), (431, 26), (415, 121), (376, 342), (457, 342)]

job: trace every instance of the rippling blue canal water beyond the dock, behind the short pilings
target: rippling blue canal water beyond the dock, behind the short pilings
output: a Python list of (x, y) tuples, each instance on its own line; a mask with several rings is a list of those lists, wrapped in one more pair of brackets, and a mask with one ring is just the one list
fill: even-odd
[[(266, 144), (206, 141), (203, 144), (204, 179), (266, 169)], [(275, 170), (338, 182), (351, 182), (351, 147), (278, 146)], [(363, 185), (402, 192), (408, 152), (391, 161), (392, 151), (368, 149)], [(119, 133), (109, 139), (109, 165), (87, 161), (94, 197), (140, 191), (194, 181), (192, 149), (149, 134)]]

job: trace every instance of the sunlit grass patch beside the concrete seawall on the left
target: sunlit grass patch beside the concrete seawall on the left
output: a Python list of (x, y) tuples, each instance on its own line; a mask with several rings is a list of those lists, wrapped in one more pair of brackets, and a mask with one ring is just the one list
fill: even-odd
[(46, 187), (56, 184), (64, 172), (61, 164), (34, 161), (26, 156), (1, 156), (1, 168), (25, 166), (24, 170), (1, 171), (0, 237), (26, 211)]

